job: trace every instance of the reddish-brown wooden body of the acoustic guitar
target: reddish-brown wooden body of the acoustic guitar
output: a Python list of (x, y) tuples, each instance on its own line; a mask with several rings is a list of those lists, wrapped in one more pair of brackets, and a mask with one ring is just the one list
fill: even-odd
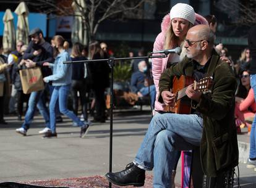
[[(186, 88), (192, 83), (194, 83), (193, 77), (182, 75), (180, 78), (177, 78), (176, 76), (174, 76), (172, 92), (177, 95), (178, 91), (181, 91), (181, 89)], [(190, 111), (191, 111), (191, 100), (187, 96), (179, 100), (176, 100), (174, 107), (168, 106), (168, 105), (164, 107), (164, 112), (190, 114)]]

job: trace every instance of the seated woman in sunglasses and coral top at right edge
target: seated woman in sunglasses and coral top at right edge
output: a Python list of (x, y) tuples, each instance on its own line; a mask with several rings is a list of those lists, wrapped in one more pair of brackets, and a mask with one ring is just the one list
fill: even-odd
[(236, 127), (237, 133), (241, 133), (241, 128), (247, 126), (250, 134), (251, 125), (246, 119), (254, 118), (256, 112), (256, 103), (254, 100), (254, 91), (250, 88), (250, 73), (249, 70), (242, 71), (240, 75), (240, 83), (236, 94)]

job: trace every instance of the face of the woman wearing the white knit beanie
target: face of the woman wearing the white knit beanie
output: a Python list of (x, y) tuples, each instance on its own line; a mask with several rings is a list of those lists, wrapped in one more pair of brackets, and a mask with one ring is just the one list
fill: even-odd
[(179, 39), (184, 39), (187, 35), (187, 30), (189, 30), (189, 21), (183, 18), (173, 18), (171, 26), (173, 27), (174, 35)]

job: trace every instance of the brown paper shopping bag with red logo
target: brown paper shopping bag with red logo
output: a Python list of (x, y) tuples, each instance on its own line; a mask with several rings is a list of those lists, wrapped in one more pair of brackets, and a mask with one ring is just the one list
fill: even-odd
[(20, 70), (20, 80), (24, 94), (40, 91), (45, 88), (40, 67)]

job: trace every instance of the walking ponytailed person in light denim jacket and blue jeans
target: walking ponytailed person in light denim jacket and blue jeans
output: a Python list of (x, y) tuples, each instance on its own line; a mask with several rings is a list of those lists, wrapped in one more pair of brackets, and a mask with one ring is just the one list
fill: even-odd
[(54, 86), (53, 93), (51, 94), (51, 100), (49, 102), (51, 131), (47, 131), (43, 137), (57, 137), (55, 108), (58, 100), (60, 112), (68, 116), (75, 123), (77, 123), (78, 126), (80, 126), (80, 137), (83, 137), (87, 133), (89, 125), (83, 123), (83, 121), (80, 121), (80, 119), (73, 112), (67, 109), (67, 97), (70, 91), (72, 78), (71, 65), (63, 63), (64, 61), (71, 60), (69, 53), (65, 50), (67, 41), (65, 41), (61, 35), (56, 35), (53, 37), (53, 44), (54, 49), (56, 49), (58, 54), (54, 63), (43, 63), (43, 66), (51, 67), (53, 69), (53, 75), (46, 76), (43, 78), (43, 81), (46, 83), (52, 81)]

